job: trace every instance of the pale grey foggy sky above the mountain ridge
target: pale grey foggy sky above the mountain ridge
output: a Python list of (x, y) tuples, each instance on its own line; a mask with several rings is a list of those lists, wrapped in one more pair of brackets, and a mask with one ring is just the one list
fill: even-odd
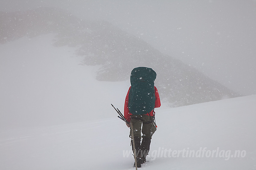
[(36, 7), (59, 7), (81, 19), (104, 19), (236, 92), (256, 94), (255, 0), (0, 2), (1, 11)]

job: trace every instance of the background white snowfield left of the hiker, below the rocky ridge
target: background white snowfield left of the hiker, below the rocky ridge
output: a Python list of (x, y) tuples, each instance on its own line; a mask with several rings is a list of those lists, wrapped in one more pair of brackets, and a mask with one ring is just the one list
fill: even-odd
[(108, 118), (106, 100), (123, 104), (129, 81), (95, 80), (98, 66), (84, 66), (74, 47), (52, 46), (52, 37), (0, 45), (0, 129)]

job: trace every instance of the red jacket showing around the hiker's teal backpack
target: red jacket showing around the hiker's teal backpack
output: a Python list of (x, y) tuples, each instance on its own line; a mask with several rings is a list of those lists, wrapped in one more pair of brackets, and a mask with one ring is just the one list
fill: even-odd
[[(131, 86), (130, 86), (131, 88)], [(131, 113), (129, 111), (129, 108), (128, 108), (128, 101), (129, 101), (129, 92), (130, 92), (130, 88), (126, 94), (126, 98), (125, 98), (125, 103), (124, 103), (124, 118), (130, 122), (131, 121)], [(157, 88), (155, 87), (155, 108), (157, 107), (160, 107), (161, 106), (161, 103), (160, 103), (160, 98), (159, 98), (159, 94), (158, 94), (158, 91), (157, 91)], [(147, 113), (146, 115), (148, 116), (153, 116), (153, 110), (149, 113)]]

